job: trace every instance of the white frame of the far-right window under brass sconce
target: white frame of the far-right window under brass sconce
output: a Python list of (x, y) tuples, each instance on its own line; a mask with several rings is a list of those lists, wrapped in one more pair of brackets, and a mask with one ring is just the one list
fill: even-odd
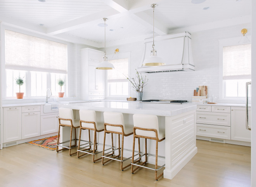
[[(251, 41), (251, 36), (247, 36), (249, 41)], [(234, 46), (234, 45), (240, 45), (239, 40), (241, 37), (235, 37), (235, 38), (227, 38), (227, 39), (221, 39), (219, 40), (219, 100), (227, 100), (227, 101), (242, 101), (245, 97), (225, 97), (225, 89), (223, 84), (223, 47), (225, 46)], [(241, 43), (242, 44), (250, 44), (251, 42), (247, 43)], [(245, 89), (245, 88), (244, 88)]]

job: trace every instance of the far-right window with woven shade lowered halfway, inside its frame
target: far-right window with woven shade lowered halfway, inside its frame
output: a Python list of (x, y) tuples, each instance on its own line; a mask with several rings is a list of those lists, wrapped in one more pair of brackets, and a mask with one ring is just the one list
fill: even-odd
[(251, 81), (251, 44), (223, 46), (224, 98), (245, 97), (248, 81)]

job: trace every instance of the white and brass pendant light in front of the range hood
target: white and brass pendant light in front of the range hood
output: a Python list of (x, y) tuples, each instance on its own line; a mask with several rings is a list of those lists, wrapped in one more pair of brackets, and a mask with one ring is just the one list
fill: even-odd
[(150, 51), (150, 57), (146, 58), (142, 65), (144, 66), (159, 66), (159, 65), (165, 65), (164, 63), (164, 59), (157, 57), (156, 54), (156, 50), (155, 50), (155, 40), (154, 40), (154, 36), (155, 36), (155, 32), (154, 32), (154, 27), (155, 27), (155, 23), (154, 23), (154, 12), (155, 12), (155, 7), (157, 7), (157, 4), (151, 4), (150, 7), (153, 8), (153, 45), (152, 45), (152, 50)]

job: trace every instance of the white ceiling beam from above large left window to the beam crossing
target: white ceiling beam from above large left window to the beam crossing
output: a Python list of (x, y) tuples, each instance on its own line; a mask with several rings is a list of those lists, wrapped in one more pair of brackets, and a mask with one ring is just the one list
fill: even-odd
[(64, 33), (67, 31), (71, 31), (74, 29), (79, 29), (79, 28), (85, 26), (85, 24), (88, 22), (100, 20), (103, 17), (109, 17), (111, 15), (116, 15), (118, 13), (119, 12), (117, 10), (114, 10), (111, 8), (111, 9), (108, 9), (108, 10), (105, 10), (102, 12), (98, 12), (95, 14), (86, 15), (86, 16), (80, 17), (78, 19), (73, 19), (71, 21), (67, 21), (62, 24), (58, 24), (56, 26), (49, 27), (49, 28), (47, 28), (47, 34), (55, 35), (55, 34), (60, 34), (60, 33)]

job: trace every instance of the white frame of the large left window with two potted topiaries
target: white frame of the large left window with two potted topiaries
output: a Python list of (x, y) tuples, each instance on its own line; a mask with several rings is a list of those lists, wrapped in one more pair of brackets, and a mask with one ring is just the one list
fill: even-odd
[[(7, 97), (6, 95), (6, 73), (5, 73), (5, 30), (10, 30), (10, 31), (14, 31), (14, 32), (18, 32), (18, 33), (22, 33), (22, 34), (27, 34), (27, 35), (30, 35), (30, 36), (35, 36), (35, 37), (38, 37), (38, 38), (43, 38), (43, 39), (48, 39), (50, 41), (55, 41), (55, 42), (59, 42), (59, 43), (64, 43), (67, 45), (67, 73), (66, 73), (66, 79), (67, 77), (69, 77), (69, 58), (70, 58), (70, 43), (69, 42), (66, 42), (66, 41), (62, 41), (62, 40), (59, 40), (59, 39), (55, 39), (55, 38), (50, 38), (50, 37), (47, 37), (47, 36), (43, 36), (43, 35), (40, 35), (40, 34), (36, 34), (36, 33), (32, 33), (32, 32), (29, 32), (29, 31), (24, 31), (22, 29), (18, 29), (18, 28), (14, 28), (14, 27), (10, 27), (10, 26), (6, 26), (6, 25), (3, 25), (1, 24), (1, 27), (0, 27), (0, 45), (2, 46), (1, 47), (1, 50), (0, 50), (0, 58), (1, 58), (1, 79), (2, 79), (2, 99), (3, 100), (17, 100), (16, 97)], [(16, 69), (17, 70), (17, 69)], [(24, 97), (24, 99), (42, 99), (42, 98), (45, 98), (45, 96), (28, 96), (29, 93), (31, 93), (31, 86), (29, 87), (30, 82), (29, 82), (29, 79), (30, 77), (28, 77), (28, 74), (30, 74), (29, 71), (36, 71), (36, 69), (28, 69), (28, 70), (24, 70), (24, 71), (27, 71), (27, 79), (26, 79), (26, 97)], [(40, 69), (38, 69), (38, 71), (40, 71)], [(51, 82), (50, 82), (50, 73), (61, 73), (61, 72), (47, 72), (47, 88), (50, 88), (51, 86)], [(29, 83), (28, 83), (29, 82)], [(68, 97), (68, 92), (69, 92), (69, 88), (68, 88), (68, 84), (69, 84), (69, 80), (67, 79), (66, 80), (66, 90), (65, 90), (65, 96)], [(45, 93), (46, 93), (46, 90), (45, 90)]]

